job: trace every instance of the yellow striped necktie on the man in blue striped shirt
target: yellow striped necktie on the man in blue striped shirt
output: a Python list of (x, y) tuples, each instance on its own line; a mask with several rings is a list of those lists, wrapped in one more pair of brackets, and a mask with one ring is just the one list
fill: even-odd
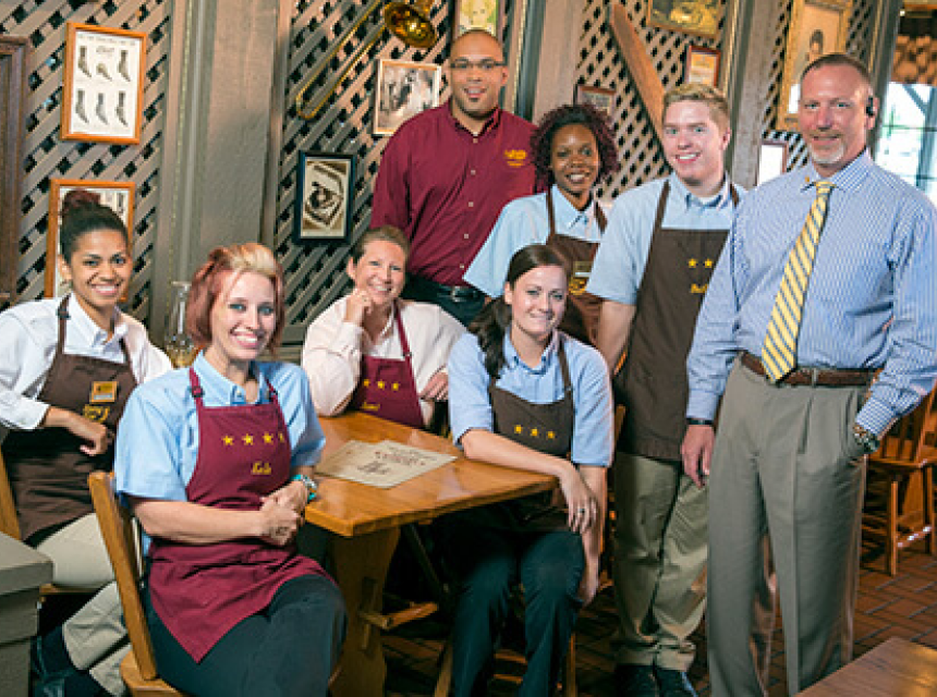
[(771, 319), (762, 348), (762, 363), (771, 382), (777, 382), (796, 365), (798, 333), (801, 329), (801, 314), (807, 283), (814, 268), (817, 243), (826, 220), (827, 204), (832, 184), (826, 181), (816, 183), (817, 195), (807, 213), (801, 234), (788, 256), (781, 288), (775, 297)]

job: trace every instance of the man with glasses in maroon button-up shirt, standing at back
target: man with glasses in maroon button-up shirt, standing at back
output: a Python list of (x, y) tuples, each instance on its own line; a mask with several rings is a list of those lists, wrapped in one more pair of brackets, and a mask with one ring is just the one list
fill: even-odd
[(406, 121), (387, 144), (370, 225), (394, 225), (410, 237), (404, 296), (468, 323), (485, 296), (462, 276), (504, 204), (534, 191), (534, 126), (498, 107), (508, 70), (487, 32), (455, 39), (447, 76), (451, 99)]

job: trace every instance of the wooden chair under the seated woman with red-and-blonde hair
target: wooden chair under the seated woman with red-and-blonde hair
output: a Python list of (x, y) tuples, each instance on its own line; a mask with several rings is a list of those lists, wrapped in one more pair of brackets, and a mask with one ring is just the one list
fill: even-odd
[(181, 695), (159, 678), (149, 627), (139, 600), (141, 565), (137, 550), (139, 536), (130, 511), (120, 505), (113, 492), (113, 476), (104, 472), (88, 475), (88, 488), (101, 536), (108, 548), (123, 607), (124, 624), (130, 636), (131, 651), (120, 667), (121, 677), (131, 695)]

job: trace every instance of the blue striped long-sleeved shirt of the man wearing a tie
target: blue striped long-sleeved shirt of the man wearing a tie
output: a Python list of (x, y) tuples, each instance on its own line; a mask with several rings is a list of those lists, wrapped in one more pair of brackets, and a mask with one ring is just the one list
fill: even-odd
[[(784, 265), (822, 179), (813, 166), (742, 203), (687, 358), (687, 416), (711, 418), (740, 350), (760, 355)], [(798, 365), (884, 368), (856, 423), (876, 433), (937, 377), (937, 209), (863, 152), (835, 185), (798, 339)]]

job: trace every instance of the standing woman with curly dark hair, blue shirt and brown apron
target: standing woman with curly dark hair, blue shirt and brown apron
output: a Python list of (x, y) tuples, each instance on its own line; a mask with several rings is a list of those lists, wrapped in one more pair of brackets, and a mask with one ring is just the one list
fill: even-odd
[(513, 254), (543, 243), (569, 264), (569, 308), (562, 329), (595, 343), (598, 298), (585, 292), (606, 215), (596, 182), (619, 168), (618, 147), (606, 117), (589, 105), (567, 105), (544, 114), (531, 136), (538, 182), (547, 191), (511, 201), (465, 272), (489, 297), (501, 294)]

